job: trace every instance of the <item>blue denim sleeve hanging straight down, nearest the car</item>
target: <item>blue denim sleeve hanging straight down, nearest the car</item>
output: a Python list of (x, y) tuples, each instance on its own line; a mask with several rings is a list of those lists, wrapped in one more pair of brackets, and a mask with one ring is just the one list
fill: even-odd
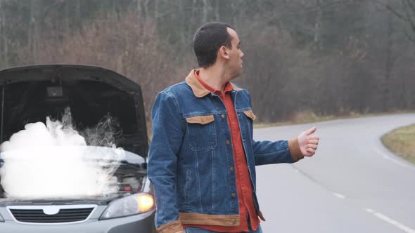
[(179, 105), (167, 92), (157, 95), (151, 112), (153, 140), (148, 156), (148, 178), (154, 185), (157, 213), (155, 227), (160, 233), (183, 230), (177, 208), (177, 154), (184, 135)]

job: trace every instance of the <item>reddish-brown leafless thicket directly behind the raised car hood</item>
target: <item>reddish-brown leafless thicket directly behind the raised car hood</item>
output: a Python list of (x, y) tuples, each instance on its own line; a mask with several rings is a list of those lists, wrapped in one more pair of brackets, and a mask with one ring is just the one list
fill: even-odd
[[(149, 122), (154, 94), (179, 81), (174, 75), (172, 50), (158, 39), (154, 23), (141, 20), (134, 12), (125, 13), (121, 19), (101, 17), (83, 25), (77, 34), (63, 34), (63, 40), (41, 38), (36, 61), (98, 65), (124, 74), (143, 87)], [(119, 36), (122, 33), (125, 36)], [(21, 48), (20, 60), (25, 60), (25, 51)]]

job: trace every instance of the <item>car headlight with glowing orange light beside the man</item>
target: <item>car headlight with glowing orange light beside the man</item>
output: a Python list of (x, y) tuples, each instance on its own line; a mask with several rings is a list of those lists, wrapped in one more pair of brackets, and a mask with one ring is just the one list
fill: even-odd
[(111, 201), (101, 220), (146, 213), (154, 208), (154, 197), (148, 193), (134, 194)]

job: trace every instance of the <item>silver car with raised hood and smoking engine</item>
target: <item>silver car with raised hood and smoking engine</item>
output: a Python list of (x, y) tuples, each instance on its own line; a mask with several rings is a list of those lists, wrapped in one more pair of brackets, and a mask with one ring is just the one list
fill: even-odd
[[(120, 128), (116, 147), (69, 145), (27, 149), (22, 146), (1, 151), (0, 232), (156, 232), (153, 186), (146, 175), (148, 135), (139, 84), (102, 67), (14, 67), (0, 71), (0, 103), (1, 143), (11, 140), (12, 135), (30, 123), (45, 124), (49, 120), (46, 116), (60, 119), (68, 109), (79, 131), (97, 127), (103, 116), (117, 119)], [(25, 143), (38, 140), (33, 136), (29, 139)], [(102, 157), (119, 152), (120, 148), (122, 157)], [(84, 164), (68, 164), (67, 161), (72, 161), (68, 159), (75, 158), (74, 154), (79, 151), (88, 154), (82, 157)], [(25, 161), (27, 158), (31, 160)], [(49, 164), (39, 163), (45, 158), (49, 158)], [(108, 185), (113, 191), (84, 196), (66, 193), (65, 188), (70, 187), (75, 178), (78, 179), (73, 182), (75, 185), (94, 178), (94, 174), (84, 175), (80, 171), (83, 166), (96, 169), (112, 166), (113, 171), (94, 174), (106, 175), (106, 180), (113, 181)], [(63, 171), (68, 167), (71, 170)], [(44, 169), (54, 170), (34, 179), (28, 173), (34, 168), (40, 173), (44, 173)], [(67, 177), (60, 178), (62, 174)], [(93, 182), (92, 186), (96, 184)], [(36, 195), (26, 195), (27, 190)]]

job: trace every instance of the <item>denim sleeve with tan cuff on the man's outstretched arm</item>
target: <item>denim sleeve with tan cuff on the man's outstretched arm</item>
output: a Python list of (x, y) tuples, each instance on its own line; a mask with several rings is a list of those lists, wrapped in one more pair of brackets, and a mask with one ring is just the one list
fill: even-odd
[(292, 164), (304, 158), (298, 145), (297, 138), (276, 142), (253, 140), (255, 165)]

